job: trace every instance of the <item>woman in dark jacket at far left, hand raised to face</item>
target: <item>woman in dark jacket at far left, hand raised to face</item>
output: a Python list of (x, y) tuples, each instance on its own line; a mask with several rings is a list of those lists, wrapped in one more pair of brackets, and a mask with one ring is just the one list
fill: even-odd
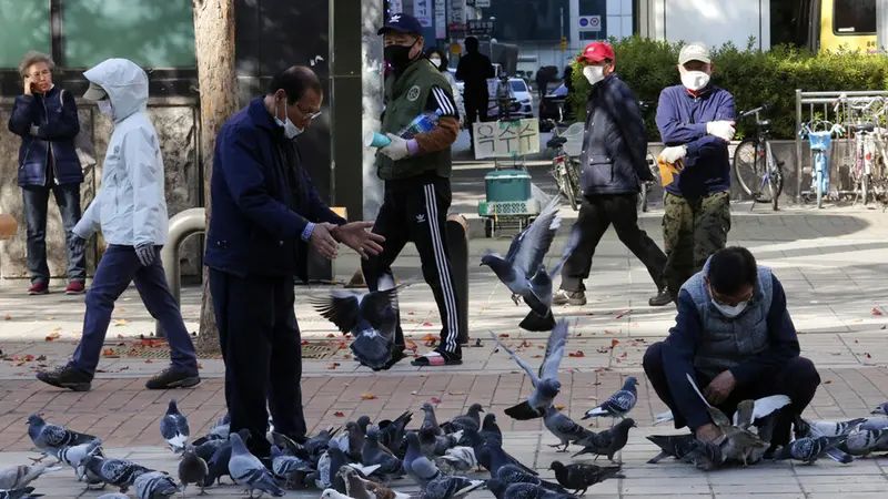
[(56, 64), (40, 52), (28, 52), (19, 64), (24, 91), (16, 98), (9, 131), (21, 138), (19, 186), (28, 224), (29, 295), (49, 293), (47, 265), (47, 210), (49, 196), (62, 215), (68, 253), (69, 295), (85, 291), (87, 258), (83, 247), (72, 244), (80, 221), (80, 184), (83, 171), (74, 147), (80, 133), (74, 95), (52, 83)]

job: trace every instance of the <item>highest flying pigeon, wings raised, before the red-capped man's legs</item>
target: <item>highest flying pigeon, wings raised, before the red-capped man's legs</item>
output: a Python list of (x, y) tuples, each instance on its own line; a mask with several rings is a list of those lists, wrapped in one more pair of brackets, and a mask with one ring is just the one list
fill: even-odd
[[(551, 274), (546, 272), (543, 258), (548, 253), (561, 223), (558, 198), (553, 197), (536, 220), (512, 240), (505, 257), (487, 252), (481, 258), (481, 265), (491, 267), (512, 292), (515, 305), (518, 304), (518, 299), (524, 299), (531, 307), (532, 314), (521, 324), (521, 327), (527, 330), (545, 332), (552, 330), (555, 326), (555, 318), (552, 315), (552, 276), (559, 272), (567, 258), (563, 256)], [(576, 241), (578, 232), (574, 231), (565, 248), (566, 255), (569, 255), (573, 246), (576, 246)]]

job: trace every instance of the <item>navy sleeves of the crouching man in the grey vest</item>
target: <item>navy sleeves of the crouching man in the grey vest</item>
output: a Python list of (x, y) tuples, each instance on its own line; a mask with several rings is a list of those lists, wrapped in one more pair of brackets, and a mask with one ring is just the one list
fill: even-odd
[[(787, 360), (798, 357), (800, 348), (796, 326), (789, 312), (786, 309), (786, 293), (776, 276), (771, 276), (773, 295), (770, 309), (766, 318), (770, 346), (757, 356), (745, 363), (730, 368), (736, 386), (745, 386), (753, 383), (759, 376), (776, 369)], [(676, 383), (669, 381), (669, 389), (673, 391), (678, 414), (687, 421), (687, 426), (696, 429), (707, 422), (712, 422), (706, 414), (706, 406), (703, 405), (699, 396), (687, 383), (687, 373), (694, 373), (694, 354), (697, 343), (703, 334), (703, 323), (699, 312), (694, 304), (694, 298), (686, 289), (678, 293), (678, 315), (676, 316), (675, 327), (669, 329), (669, 336), (663, 342), (663, 366), (666, 377)], [(708, 384), (710, 380), (699, 383)], [(703, 389), (706, 385), (700, 385)], [(730, 415), (728, 415), (730, 416)]]

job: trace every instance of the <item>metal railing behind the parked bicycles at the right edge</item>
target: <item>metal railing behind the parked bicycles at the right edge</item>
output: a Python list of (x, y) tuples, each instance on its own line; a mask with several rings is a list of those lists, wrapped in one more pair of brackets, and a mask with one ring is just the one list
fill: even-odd
[[(796, 203), (801, 202), (803, 194), (811, 194), (810, 189), (803, 191), (801, 190), (801, 177), (803, 177), (803, 157), (807, 157), (807, 164), (813, 165), (813, 157), (814, 153), (807, 146), (807, 140), (803, 140), (799, 136), (799, 131), (801, 130), (803, 123), (809, 123), (811, 120), (819, 118), (820, 120), (829, 121), (831, 123), (840, 123), (845, 125), (846, 123), (842, 122), (842, 114), (841, 112), (835, 110), (835, 104), (838, 102), (842, 96), (849, 99), (859, 99), (859, 98), (877, 98), (877, 96), (888, 96), (888, 91), (850, 91), (850, 92), (805, 92), (800, 89), (796, 89)], [(841, 189), (844, 185), (849, 183), (850, 172), (848, 164), (845, 163), (836, 163), (834, 159), (841, 157), (846, 159), (849, 157), (848, 154), (845, 152), (850, 146), (849, 136), (846, 135), (841, 140), (834, 141), (834, 147), (829, 151), (829, 184), (836, 185), (838, 189), (836, 191), (839, 195), (850, 195), (857, 193), (857, 186), (851, 185), (851, 189)], [(806, 152), (807, 151), (807, 152)], [(841, 151), (841, 152), (839, 152)], [(847, 177), (847, 179), (846, 179)], [(810, 177), (807, 179), (810, 183)]]

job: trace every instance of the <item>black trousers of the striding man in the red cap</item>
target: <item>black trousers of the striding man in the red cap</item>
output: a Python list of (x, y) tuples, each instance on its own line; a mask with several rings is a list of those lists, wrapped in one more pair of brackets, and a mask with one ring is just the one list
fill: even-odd
[(638, 195), (608, 194), (586, 196), (579, 206), (576, 224), (579, 226), (579, 242), (576, 249), (564, 263), (562, 269), (562, 289), (568, 292), (585, 291), (583, 284), (592, 271), (592, 257), (598, 242), (610, 224), (617, 237), (647, 267), (650, 278), (657, 287), (666, 265), (666, 255), (646, 232), (638, 227)]

